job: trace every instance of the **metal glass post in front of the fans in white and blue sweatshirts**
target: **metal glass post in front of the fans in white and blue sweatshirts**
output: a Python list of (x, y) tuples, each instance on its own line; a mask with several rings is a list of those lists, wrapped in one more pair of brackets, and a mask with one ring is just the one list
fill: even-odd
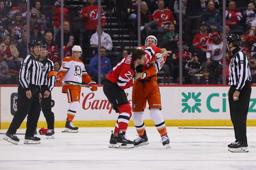
[(101, 56), (100, 56), (100, 31), (101, 31), (101, 17), (100, 17), (100, 0), (98, 0), (98, 84), (101, 84)]

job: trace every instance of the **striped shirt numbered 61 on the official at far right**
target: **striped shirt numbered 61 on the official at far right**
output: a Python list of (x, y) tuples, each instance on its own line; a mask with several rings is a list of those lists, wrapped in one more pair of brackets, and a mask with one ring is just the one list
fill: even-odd
[(229, 64), (229, 85), (235, 85), (236, 91), (240, 92), (246, 81), (251, 81), (249, 61), (241, 48), (232, 51), (232, 58)]

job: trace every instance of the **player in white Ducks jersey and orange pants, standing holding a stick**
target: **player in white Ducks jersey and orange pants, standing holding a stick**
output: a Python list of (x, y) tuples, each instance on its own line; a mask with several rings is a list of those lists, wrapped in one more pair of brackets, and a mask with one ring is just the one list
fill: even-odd
[[(94, 82), (90, 78), (84, 68), (84, 63), (79, 59), (81, 55), (82, 48), (75, 45), (72, 48), (72, 56), (63, 58), (60, 71), (58, 72), (56, 78), (56, 85), (61, 85), (62, 80), (64, 80), (65, 82), (77, 84), (82, 84), (83, 81), (84, 83), (88, 83), (88, 85), (92, 87), (92, 91), (97, 91), (98, 87), (96, 85), (96, 82)], [(62, 93), (67, 94), (68, 103), (70, 103), (68, 109), (68, 118), (65, 125), (66, 132), (78, 132), (78, 127), (75, 127), (72, 121), (76, 115), (77, 108), (79, 107), (80, 92), (81, 87), (79, 86), (69, 84), (64, 84), (62, 86)]]

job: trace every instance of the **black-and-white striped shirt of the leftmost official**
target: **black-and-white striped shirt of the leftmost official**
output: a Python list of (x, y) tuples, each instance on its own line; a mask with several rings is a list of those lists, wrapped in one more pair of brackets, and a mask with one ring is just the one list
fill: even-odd
[(20, 84), (22, 87), (28, 91), (30, 85), (38, 85), (40, 87), (40, 76), (41, 76), (41, 63), (38, 58), (35, 58), (32, 55), (28, 55), (21, 62), (20, 68)]

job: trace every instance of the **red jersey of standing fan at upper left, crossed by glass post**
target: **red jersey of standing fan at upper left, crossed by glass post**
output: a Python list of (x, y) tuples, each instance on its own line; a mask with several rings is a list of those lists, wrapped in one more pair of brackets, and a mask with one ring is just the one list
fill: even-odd
[[(70, 17), (69, 17), (69, 11), (67, 8), (63, 8), (63, 21), (68, 20), (70, 23)], [(61, 6), (55, 3), (55, 5), (52, 7), (52, 21), (53, 26), (56, 26), (57, 28), (60, 27), (60, 21), (61, 21)]]

